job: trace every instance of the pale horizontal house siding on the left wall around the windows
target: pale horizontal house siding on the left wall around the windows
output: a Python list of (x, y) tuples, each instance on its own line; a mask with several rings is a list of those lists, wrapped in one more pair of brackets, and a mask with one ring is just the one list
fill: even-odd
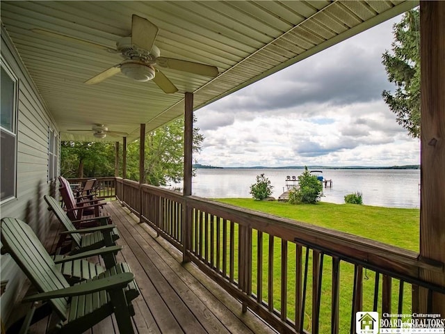
[[(1, 58), (18, 79), (17, 113), (17, 193), (16, 198), (1, 204), (1, 218), (12, 216), (29, 223), (40, 240), (47, 237), (51, 216), (43, 196), (52, 194), (55, 184), (48, 182), (48, 129), (58, 133), (58, 127), (44, 105), (37, 88), (26, 71), (8, 33), (1, 27)], [(59, 143), (60, 144), (60, 143)], [(59, 149), (60, 150), (60, 145)], [(60, 154), (58, 152), (58, 157)], [(59, 161), (58, 161), (58, 164)], [(59, 173), (60, 168), (58, 168)], [(15, 298), (24, 283), (24, 275), (10, 255), (1, 255), (1, 280), (9, 280), (6, 292), (0, 297), (0, 316), (3, 324), (10, 317)]]

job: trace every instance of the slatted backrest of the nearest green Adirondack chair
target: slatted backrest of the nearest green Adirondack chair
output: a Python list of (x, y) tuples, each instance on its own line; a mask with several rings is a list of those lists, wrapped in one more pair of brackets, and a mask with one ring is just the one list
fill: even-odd
[[(1, 219), (1, 243), (39, 292), (70, 287), (31, 227), (16, 218)], [(67, 319), (67, 299), (49, 300), (60, 319)]]

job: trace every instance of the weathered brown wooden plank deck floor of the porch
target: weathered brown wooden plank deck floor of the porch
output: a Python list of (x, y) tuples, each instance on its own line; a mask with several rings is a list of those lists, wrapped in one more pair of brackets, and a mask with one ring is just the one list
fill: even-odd
[[(182, 256), (117, 201), (106, 211), (118, 226), (123, 246), (118, 260), (129, 263), (141, 295), (133, 301), (137, 333), (275, 333), (241, 303), (229, 296), (194, 264), (181, 264)], [(42, 321), (40, 321), (42, 322)], [(42, 333), (42, 324), (30, 333)], [(87, 333), (118, 333), (113, 317)], [(124, 333), (122, 333), (124, 334)]]

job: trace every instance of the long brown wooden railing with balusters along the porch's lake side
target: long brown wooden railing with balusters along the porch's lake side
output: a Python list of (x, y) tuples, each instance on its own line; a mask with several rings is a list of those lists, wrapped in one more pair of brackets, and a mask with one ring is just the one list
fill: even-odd
[(355, 333), (355, 312), (411, 314), (418, 289), (445, 293), (419, 278), (421, 269), (444, 275), (443, 264), (423, 262), (412, 251), (147, 184), (117, 183), (118, 198), (122, 193), (141, 221), (244, 311), (281, 333)]

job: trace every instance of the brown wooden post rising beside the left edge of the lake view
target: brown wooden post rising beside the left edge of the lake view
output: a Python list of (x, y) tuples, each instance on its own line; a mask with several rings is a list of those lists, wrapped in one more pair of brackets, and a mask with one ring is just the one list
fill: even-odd
[[(193, 154), (193, 93), (186, 93), (184, 108), (184, 196), (192, 194), (192, 154)], [(188, 250), (191, 250), (192, 209), (184, 201), (182, 207), (182, 260), (190, 262)]]

